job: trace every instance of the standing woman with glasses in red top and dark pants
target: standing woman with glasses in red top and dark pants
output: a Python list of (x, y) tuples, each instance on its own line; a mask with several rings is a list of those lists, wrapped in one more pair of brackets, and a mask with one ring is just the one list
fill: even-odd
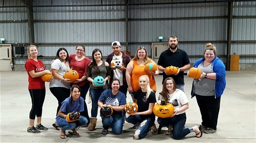
[[(76, 54), (70, 54), (69, 56), (70, 68), (76, 70), (79, 74), (79, 79), (76, 82), (71, 83), (71, 85), (76, 84), (81, 88), (81, 97), (85, 100), (86, 94), (90, 87), (90, 82), (86, 79), (87, 67), (91, 63), (88, 57), (85, 57), (85, 48), (83, 45), (76, 46)], [(88, 115), (88, 109), (86, 102), (84, 101), (84, 111), (80, 113), (81, 116), (87, 118), (87, 125), (81, 126), (86, 127), (90, 124), (90, 117)]]

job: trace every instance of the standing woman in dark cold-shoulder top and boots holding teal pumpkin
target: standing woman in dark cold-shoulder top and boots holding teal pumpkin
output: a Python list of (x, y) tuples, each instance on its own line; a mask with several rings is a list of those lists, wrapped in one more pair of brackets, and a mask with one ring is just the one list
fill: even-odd
[[(87, 80), (90, 82), (90, 96), (92, 99), (92, 109), (90, 117), (90, 126), (89, 131), (94, 131), (97, 123), (97, 114), (98, 114), (98, 100), (102, 92), (108, 89), (108, 80), (111, 76), (111, 68), (109, 64), (102, 60), (102, 52), (99, 49), (93, 50), (93, 62), (90, 63), (87, 69)], [(93, 83), (93, 79), (97, 76), (102, 76), (105, 81), (104, 86), (96, 87)]]

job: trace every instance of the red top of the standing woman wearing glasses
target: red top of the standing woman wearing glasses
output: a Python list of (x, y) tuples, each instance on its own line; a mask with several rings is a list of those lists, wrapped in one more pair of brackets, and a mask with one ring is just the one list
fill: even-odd
[[(76, 70), (76, 72), (78, 72), (79, 79), (80, 79), (81, 77), (86, 76), (87, 67), (91, 63), (91, 61), (88, 57), (84, 57), (83, 60), (77, 61), (76, 60), (76, 54), (70, 54), (69, 63), (70, 63), (70, 68), (73, 68), (73, 70)], [(81, 86), (84, 86), (84, 84), (87, 81), (88, 80), (84, 80), (84, 81), (79, 82), (79, 83), (71, 83), (71, 85), (76, 84), (77, 86), (81, 87)]]

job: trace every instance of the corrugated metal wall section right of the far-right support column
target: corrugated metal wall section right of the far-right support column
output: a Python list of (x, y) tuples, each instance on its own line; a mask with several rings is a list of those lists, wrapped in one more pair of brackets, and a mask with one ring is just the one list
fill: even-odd
[[(236, 2), (233, 15), (256, 16), (256, 2)], [(232, 40), (256, 40), (256, 18), (233, 19)], [(256, 43), (233, 43), (231, 54), (256, 54)], [(256, 58), (241, 57), (240, 63), (256, 63)]]

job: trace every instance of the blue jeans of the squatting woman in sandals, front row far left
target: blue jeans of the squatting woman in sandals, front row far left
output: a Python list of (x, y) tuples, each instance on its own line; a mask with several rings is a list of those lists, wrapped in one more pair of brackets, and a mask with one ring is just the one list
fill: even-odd
[(65, 132), (66, 130), (72, 130), (79, 126), (86, 125), (88, 120), (84, 116), (80, 116), (80, 120), (77, 120), (75, 122), (67, 122), (66, 119), (61, 118), (58, 120), (57, 124), (61, 127), (61, 131)]

